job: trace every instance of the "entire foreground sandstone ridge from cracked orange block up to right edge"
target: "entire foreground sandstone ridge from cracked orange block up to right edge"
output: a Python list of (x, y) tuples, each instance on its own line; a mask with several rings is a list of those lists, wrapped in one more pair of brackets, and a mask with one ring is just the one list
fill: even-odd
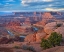
[[(61, 24), (60, 27), (57, 24)], [(26, 36), (25, 41), (27, 42), (41, 42), (41, 39), (47, 39), (52, 32), (57, 32), (62, 34), (64, 37), (64, 22), (51, 22), (44, 26), (44, 28), (37, 33), (29, 34)]]

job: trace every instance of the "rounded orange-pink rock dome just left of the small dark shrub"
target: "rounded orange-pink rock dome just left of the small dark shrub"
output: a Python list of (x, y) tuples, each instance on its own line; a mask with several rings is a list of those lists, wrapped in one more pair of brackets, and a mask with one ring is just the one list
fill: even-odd
[(56, 22), (52, 22), (52, 23), (48, 23), (44, 26), (44, 31), (47, 34), (51, 34), (51, 32), (53, 32), (56, 29)]

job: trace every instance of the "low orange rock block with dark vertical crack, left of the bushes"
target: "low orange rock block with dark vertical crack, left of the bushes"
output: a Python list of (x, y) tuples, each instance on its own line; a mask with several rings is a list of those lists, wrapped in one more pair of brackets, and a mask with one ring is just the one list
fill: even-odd
[(46, 33), (42, 32), (42, 33), (34, 33), (34, 34), (30, 34), (27, 35), (25, 38), (25, 41), (27, 42), (41, 42), (42, 38), (46, 37)]

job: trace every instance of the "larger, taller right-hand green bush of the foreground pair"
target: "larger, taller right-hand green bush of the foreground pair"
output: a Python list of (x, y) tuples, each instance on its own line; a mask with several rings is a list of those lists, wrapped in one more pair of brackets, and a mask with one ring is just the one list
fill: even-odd
[(51, 33), (51, 36), (48, 38), (49, 42), (55, 47), (56, 45), (60, 46), (62, 41), (62, 35), (56, 32)]

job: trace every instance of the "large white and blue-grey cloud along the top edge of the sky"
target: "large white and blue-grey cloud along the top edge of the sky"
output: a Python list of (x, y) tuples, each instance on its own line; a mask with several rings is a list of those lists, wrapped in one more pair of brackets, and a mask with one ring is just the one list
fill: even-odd
[(27, 6), (27, 5), (30, 5), (31, 3), (36, 3), (37, 4), (40, 4), (40, 3), (43, 3), (43, 2), (52, 2), (53, 0), (21, 0), (21, 4), (24, 5), (24, 6)]

